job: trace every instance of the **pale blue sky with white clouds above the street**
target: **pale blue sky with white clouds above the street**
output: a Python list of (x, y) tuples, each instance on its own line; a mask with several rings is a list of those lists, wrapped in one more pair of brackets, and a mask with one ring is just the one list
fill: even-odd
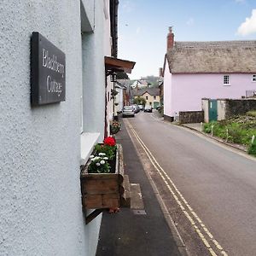
[(119, 0), (118, 19), (131, 79), (158, 75), (169, 26), (176, 41), (256, 40), (256, 0)]

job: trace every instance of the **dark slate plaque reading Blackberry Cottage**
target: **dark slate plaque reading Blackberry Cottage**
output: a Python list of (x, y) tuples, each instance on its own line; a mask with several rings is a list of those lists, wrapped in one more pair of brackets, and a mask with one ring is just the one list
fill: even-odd
[(66, 97), (65, 54), (39, 32), (31, 40), (32, 106), (63, 102)]

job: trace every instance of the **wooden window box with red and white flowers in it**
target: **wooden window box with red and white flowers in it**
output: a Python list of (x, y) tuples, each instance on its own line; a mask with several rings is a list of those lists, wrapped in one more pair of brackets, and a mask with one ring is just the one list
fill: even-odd
[(81, 166), (83, 209), (118, 208), (124, 194), (122, 147), (113, 137), (97, 144), (85, 166)]

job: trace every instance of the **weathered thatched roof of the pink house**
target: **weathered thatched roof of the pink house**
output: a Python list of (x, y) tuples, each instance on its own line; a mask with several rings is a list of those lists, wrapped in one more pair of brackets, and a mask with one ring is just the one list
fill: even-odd
[(175, 42), (171, 73), (256, 73), (256, 41)]

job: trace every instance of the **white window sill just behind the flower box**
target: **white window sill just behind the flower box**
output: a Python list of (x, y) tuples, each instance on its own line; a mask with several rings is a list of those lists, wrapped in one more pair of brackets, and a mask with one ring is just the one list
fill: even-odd
[(85, 165), (91, 152), (93, 151), (94, 146), (98, 143), (98, 139), (100, 137), (100, 133), (90, 133), (84, 132), (81, 134), (81, 160), (80, 166)]

